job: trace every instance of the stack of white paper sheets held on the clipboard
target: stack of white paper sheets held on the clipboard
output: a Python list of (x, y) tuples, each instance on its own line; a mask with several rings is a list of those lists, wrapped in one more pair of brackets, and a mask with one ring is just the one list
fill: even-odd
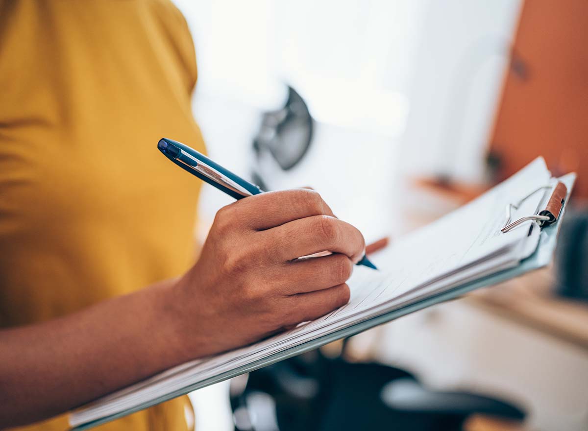
[[(361, 322), (518, 266), (536, 250), (541, 229), (527, 222), (510, 232), (500, 232), (506, 222), (505, 208), (549, 184), (554, 184), (554, 179), (543, 159), (536, 159), (475, 201), (395, 240), (385, 258), (379, 259), (385, 261), (383, 270), (356, 267), (348, 282), (352, 292), (348, 305), (272, 338), (176, 366), (105, 396), (72, 413), (71, 425), (97, 425), (285, 359), (300, 353), (302, 345), (309, 346), (305, 347), (308, 350), (330, 341), (329, 335), (341, 329), (359, 328), (359, 332), (365, 329)], [(513, 218), (537, 213), (549, 196), (549, 189), (534, 193)], [(316, 342), (309, 343), (312, 340)]]

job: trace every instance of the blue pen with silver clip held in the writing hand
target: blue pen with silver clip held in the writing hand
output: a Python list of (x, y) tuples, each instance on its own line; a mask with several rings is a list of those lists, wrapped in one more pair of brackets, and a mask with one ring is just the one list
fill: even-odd
[[(255, 184), (240, 178), (240, 176), (223, 168), (195, 149), (183, 145), (183, 143), (162, 138), (157, 143), (157, 148), (180, 168), (192, 173), (192, 175), (198, 176), (202, 181), (215, 186), (221, 192), (225, 192), (235, 199), (243, 199), (247, 196), (263, 193), (262, 189)], [(369, 261), (368, 256), (365, 255), (358, 262), (358, 265), (377, 269)]]

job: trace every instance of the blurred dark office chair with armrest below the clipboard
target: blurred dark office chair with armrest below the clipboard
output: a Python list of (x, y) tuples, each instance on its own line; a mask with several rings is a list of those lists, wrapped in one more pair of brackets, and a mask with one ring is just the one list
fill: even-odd
[(522, 409), (466, 392), (432, 392), (409, 373), (325, 358), (319, 350), (232, 383), (237, 431), (460, 431), (474, 413), (522, 420)]

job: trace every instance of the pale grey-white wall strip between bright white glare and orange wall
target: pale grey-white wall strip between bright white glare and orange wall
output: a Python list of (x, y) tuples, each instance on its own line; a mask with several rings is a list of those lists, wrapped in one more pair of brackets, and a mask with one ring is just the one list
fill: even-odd
[(403, 136), (409, 172), (480, 181), (520, 0), (427, 0)]

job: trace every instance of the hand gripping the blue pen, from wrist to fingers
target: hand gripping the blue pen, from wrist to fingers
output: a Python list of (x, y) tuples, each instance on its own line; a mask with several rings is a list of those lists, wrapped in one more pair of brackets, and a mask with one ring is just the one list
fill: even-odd
[[(324, 250), (333, 254), (297, 259)], [(190, 355), (243, 346), (345, 305), (363, 253), (359, 230), (308, 189), (221, 208), (200, 259), (173, 286)]]

